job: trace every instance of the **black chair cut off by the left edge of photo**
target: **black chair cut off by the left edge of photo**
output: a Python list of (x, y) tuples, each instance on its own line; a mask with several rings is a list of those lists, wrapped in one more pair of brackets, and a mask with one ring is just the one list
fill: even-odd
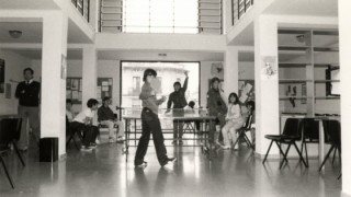
[(22, 165), (25, 166), (18, 146), (14, 142), (15, 137), (19, 137), (19, 134), (21, 131), (21, 118), (3, 118), (0, 120), (0, 160), (12, 188), (14, 188), (14, 183), (3, 161), (2, 154), (11, 150), (10, 144), (12, 143), (18, 157), (21, 160)]

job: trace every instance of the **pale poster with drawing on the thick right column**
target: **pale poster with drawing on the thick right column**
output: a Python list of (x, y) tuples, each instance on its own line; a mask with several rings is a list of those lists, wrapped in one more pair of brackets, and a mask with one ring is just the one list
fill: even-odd
[(278, 80), (276, 56), (263, 56), (261, 63), (263, 80)]

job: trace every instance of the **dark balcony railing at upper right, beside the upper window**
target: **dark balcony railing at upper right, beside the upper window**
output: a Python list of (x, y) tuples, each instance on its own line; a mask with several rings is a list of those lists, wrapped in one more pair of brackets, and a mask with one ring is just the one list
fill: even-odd
[(231, 25), (234, 26), (250, 10), (253, 0), (231, 0)]

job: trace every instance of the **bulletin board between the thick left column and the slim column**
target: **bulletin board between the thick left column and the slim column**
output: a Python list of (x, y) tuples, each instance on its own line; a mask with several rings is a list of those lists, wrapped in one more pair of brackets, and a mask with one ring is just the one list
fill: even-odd
[(81, 104), (82, 78), (66, 79), (66, 99), (70, 99), (73, 104)]

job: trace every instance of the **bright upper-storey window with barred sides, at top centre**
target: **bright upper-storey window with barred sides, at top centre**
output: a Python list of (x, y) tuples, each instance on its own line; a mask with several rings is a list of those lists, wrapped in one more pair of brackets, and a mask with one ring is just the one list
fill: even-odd
[(222, 34), (222, 0), (101, 0), (100, 32)]

